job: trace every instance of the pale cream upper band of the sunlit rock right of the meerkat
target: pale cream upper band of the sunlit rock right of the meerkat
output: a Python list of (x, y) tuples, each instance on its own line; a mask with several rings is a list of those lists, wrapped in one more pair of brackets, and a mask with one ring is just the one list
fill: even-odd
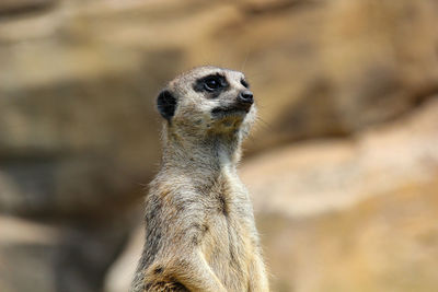
[[(396, 121), (348, 139), (302, 142), (246, 160), (242, 179), (260, 213), (344, 209), (438, 175), (438, 96)], [(437, 195), (438, 195), (438, 190)]]

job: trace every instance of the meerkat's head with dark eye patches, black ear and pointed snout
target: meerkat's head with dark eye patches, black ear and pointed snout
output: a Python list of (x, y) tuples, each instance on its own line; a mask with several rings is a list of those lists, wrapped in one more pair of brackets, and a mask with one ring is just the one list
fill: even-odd
[(172, 80), (159, 94), (157, 106), (176, 135), (246, 136), (256, 115), (249, 87), (242, 72), (198, 67)]

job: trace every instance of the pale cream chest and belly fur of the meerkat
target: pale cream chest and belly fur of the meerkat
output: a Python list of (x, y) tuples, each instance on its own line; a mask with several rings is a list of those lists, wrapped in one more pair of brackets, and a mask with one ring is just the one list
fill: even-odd
[(245, 291), (256, 238), (247, 192), (239, 182), (223, 180), (210, 198), (203, 253), (230, 291)]

